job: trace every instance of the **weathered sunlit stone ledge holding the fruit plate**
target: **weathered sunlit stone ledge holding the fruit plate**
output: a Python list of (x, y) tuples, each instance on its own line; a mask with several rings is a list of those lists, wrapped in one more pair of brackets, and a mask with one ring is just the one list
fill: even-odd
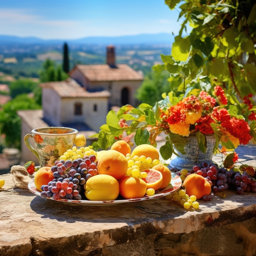
[[(216, 195), (210, 202), (200, 201), (200, 209), (191, 211), (165, 198), (88, 207), (43, 199), (26, 189), (18, 189), (10, 173), (1, 175), (1, 179), (8, 188), (0, 192), (1, 256), (17, 252), (20, 256), (49, 255), (50, 251), (61, 255), (69, 248), (75, 254), (86, 255), (101, 248), (114, 250), (117, 245), (132, 248), (129, 246), (145, 237), (189, 234), (256, 217), (255, 193), (237, 195), (225, 191), (226, 198)], [(137, 204), (162, 214), (146, 213), (136, 208)], [(146, 251), (152, 245), (145, 240), (141, 247)], [(74, 251), (66, 255), (74, 255)]]

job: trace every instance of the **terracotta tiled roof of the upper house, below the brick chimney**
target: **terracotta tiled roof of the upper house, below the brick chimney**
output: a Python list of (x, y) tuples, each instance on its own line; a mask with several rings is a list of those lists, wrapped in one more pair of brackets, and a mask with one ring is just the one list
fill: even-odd
[(126, 64), (119, 64), (112, 68), (107, 64), (103, 65), (76, 65), (70, 71), (70, 76), (75, 69), (78, 69), (91, 82), (99, 81), (142, 81), (144, 78), (138, 72)]

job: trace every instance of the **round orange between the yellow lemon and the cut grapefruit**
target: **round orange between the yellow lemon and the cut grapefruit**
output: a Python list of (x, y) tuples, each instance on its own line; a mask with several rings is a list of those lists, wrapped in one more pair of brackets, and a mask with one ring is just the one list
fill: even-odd
[(119, 193), (125, 199), (142, 198), (146, 194), (146, 189), (146, 182), (139, 178), (126, 176), (119, 182)]

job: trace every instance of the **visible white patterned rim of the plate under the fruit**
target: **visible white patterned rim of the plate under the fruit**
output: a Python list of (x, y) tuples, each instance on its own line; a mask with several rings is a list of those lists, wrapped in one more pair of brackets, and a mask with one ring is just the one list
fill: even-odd
[[(83, 204), (87, 206), (109, 206), (114, 204), (123, 204), (123, 203), (132, 203), (132, 202), (139, 202), (139, 201), (145, 201), (155, 198), (162, 198), (166, 195), (170, 195), (180, 189), (182, 185), (182, 180), (180, 177), (176, 174), (171, 172), (171, 183), (161, 191), (155, 193), (155, 195), (145, 195), (143, 198), (132, 198), (132, 199), (120, 199), (120, 200), (112, 200), (112, 201), (89, 201), (89, 200), (72, 200), (72, 199), (65, 199), (65, 198), (59, 198), (55, 201), (60, 202), (67, 202), (67, 203), (75, 203), (75, 204)], [(34, 179), (31, 179), (31, 181), (28, 184), (28, 189), (35, 195), (40, 196), (40, 191), (36, 189), (36, 186), (34, 184)], [(52, 197), (47, 197), (47, 199), (54, 200)]]

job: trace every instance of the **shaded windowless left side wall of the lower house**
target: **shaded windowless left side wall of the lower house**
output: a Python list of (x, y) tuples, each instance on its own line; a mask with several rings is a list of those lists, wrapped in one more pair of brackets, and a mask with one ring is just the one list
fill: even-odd
[(54, 126), (61, 126), (61, 98), (52, 89), (43, 88), (43, 115)]

